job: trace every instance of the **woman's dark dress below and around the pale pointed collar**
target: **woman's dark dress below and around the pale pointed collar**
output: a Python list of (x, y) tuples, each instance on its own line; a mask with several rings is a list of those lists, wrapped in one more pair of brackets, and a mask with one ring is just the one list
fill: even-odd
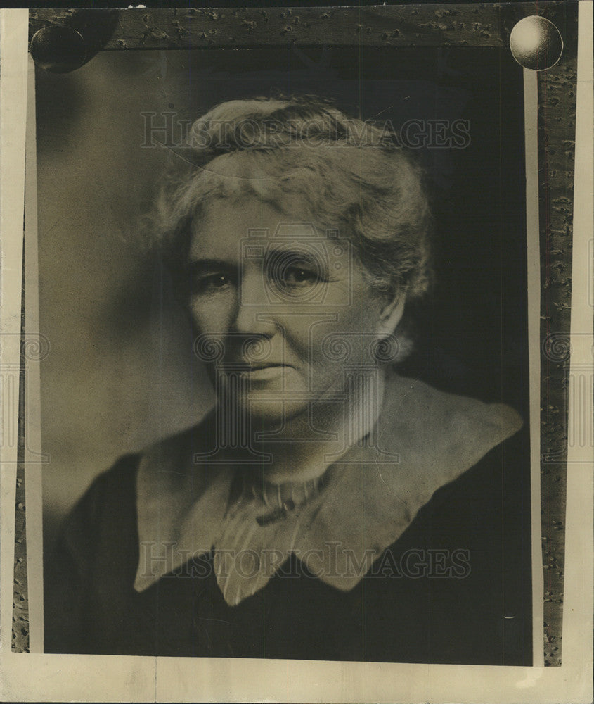
[(46, 653), (531, 665), (526, 440), (442, 486), (351, 591), (290, 558), (237, 606), (212, 555), (134, 591), (138, 455), (127, 455), (79, 501), (46, 565)]

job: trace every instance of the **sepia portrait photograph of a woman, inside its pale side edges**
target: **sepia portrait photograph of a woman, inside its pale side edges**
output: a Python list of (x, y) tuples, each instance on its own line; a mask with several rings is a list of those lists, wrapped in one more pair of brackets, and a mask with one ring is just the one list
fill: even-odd
[(531, 665), (521, 90), (503, 49), (38, 70), (47, 653)]

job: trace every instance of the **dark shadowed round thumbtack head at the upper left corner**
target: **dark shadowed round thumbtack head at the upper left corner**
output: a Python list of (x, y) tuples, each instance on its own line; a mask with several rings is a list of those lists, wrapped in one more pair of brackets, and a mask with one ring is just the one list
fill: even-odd
[(51, 73), (67, 73), (86, 61), (86, 42), (80, 32), (65, 25), (42, 27), (31, 39), (33, 61)]

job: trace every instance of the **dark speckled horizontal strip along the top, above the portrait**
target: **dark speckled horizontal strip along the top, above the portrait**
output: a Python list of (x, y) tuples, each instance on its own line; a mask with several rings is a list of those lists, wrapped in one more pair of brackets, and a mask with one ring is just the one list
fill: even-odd
[[(125, 10), (105, 49), (290, 44), (503, 46), (499, 4)], [(30, 37), (72, 10), (31, 10)], [(101, 13), (101, 11), (96, 11)]]

